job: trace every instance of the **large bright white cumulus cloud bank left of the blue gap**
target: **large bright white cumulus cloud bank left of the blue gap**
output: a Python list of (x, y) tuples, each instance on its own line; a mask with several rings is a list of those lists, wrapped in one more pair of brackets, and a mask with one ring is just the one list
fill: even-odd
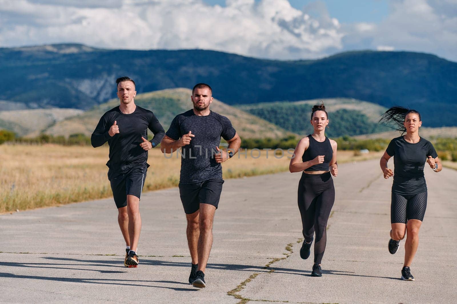
[[(335, 18), (287, 0), (0, 0), (0, 46), (78, 42), (125, 49), (202, 48), (263, 58), (316, 58), (341, 49)], [(110, 4), (110, 5), (107, 5)]]

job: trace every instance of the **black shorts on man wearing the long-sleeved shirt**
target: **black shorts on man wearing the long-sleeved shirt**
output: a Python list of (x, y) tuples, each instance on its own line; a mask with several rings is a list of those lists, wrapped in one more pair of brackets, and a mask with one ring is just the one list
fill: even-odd
[(147, 167), (134, 167), (124, 173), (108, 171), (114, 202), (118, 209), (127, 206), (127, 195), (135, 195), (141, 199), (146, 171)]

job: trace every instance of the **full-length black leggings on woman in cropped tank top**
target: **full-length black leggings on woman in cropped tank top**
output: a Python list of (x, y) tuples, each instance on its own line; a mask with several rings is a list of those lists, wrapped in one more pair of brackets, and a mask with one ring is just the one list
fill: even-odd
[(335, 187), (329, 172), (324, 174), (302, 174), (298, 184), (298, 209), (302, 215), (303, 237), (308, 243), (314, 231), (314, 262), (324, 256), (327, 243), (327, 220), (335, 202)]

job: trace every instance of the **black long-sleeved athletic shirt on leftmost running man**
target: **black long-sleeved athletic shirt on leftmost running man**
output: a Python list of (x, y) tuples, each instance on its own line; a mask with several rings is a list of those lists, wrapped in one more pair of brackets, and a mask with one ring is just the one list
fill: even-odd
[[(108, 131), (114, 121), (119, 126), (119, 133), (110, 136)], [(133, 113), (123, 114), (117, 106), (101, 116), (90, 142), (92, 147), (100, 147), (108, 142), (110, 159), (106, 166), (113, 172), (122, 173), (134, 166), (149, 166), (148, 151), (140, 147), (143, 142), (141, 137), (148, 138), (148, 129), (154, 133), (154, 138), (150, 141), (154, 148), (165, 136), (165, 130), (154, 113), (137, 105)]]

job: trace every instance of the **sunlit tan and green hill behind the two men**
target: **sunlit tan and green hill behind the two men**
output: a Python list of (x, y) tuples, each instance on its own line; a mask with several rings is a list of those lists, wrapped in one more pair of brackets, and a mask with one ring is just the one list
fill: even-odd
[[(192, 108), (190, 89), (165, 89), (156, 92), (138, 94), (135, 97), (135, 104), (152, 110), (164, 127), (168, 130), (175, 115), (190, 110)], [(107, 110), (119, 105), (119, 100), (110, 100), (104, 104), (96, 106), (91, 110), (85, 111), (80, 115), (67, 118), (57, 122), (44, 132), (57, 136), (74, 133), (90, 135), (95, 129), (101, 115)], [(251, 115), (243, 110), (226, 105), (219, 100), (213, 100), (210, 109), (221, 115), (227, 116), (232, 122), (238, 134), (245, 138), (250, 137), (272, 137), (279, 138), (292, 135), (268, 121)]]

